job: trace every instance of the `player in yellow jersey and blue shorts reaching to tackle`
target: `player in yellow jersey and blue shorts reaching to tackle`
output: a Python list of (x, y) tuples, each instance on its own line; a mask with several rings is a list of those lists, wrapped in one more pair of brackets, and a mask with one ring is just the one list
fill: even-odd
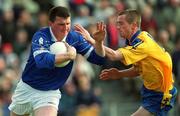
[[(106, 56), (132, 67), (126, 70), (105, 69), (101, 72), (100, 79), (140, 76), (143, 80), (142, 105), (132, 116), (166, 116), (173, 107), (177, 94), (177, 89), (173, 86), (171, 57), (148, 32), (140, 30), (140, 25), (141, 16), (136, 10), (125, 10), (118, 14), (117, 29), (120, 36), (126, 39), (127, 46), (116, 51), (104, 46)], [(92, 39), (81, 25), (75, 25), (75, 29), (92, 45), (104, 41), (103, 28), (105, 25), (102, 22), (97, 23), (97, 31)]]

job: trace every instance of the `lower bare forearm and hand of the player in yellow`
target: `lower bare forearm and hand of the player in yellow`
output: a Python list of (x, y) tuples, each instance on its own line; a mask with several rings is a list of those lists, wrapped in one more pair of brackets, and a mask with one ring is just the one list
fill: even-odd
[(134, 67), (125, 70), (118, 70), (116, 68), (104, 69), (100, 74), (101, 80), (117, 80), (123, 77), (136, 77), (139, 73)]

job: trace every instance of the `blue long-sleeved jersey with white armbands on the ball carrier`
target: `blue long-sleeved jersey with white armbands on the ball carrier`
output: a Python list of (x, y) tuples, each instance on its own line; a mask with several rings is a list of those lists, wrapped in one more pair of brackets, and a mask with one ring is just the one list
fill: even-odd
[[(95, 49), (79, 33), (71, 30), (65, 41), (91, 63), (101, 65), (105, 61), (105, 58), (97, 55)], [(54, 42), (50, 27), (40, 29), (32, 38), (30, 56), (22, 73), (22, 80), (35, 89), (59, 89), (72, 71), (74, 61), (65, 67), (55, 67), (55, 55), (49, 50)]]

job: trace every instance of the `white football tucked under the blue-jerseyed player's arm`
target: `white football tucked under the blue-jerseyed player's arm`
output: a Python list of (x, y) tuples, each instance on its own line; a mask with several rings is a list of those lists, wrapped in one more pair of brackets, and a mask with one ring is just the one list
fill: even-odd
[[(50, 46), (50, 52), (52, 54), (63, 54), (67, 52), (67, 47), (65, 45), (64, 42), (55, 42)], [(56, 64), (56, 67), (64, 67), (66, 66), (68, 63), (70, 62), (70, 60), (65, 61), (61, 64)]]

